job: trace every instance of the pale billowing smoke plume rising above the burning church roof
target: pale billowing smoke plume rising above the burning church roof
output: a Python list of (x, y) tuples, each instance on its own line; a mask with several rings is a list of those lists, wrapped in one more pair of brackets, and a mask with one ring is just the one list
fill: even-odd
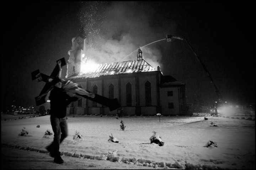
[[(141, 2), (84, 2), (79, 19), (87, 40), (85, 55), (97, 63), (137, 59), (134, 50), (160, 37), (158, 28), (150, 24), (154, 12)], [(141, 50), (151, 66), (161, 65), (161, 52), (154, 45)]]

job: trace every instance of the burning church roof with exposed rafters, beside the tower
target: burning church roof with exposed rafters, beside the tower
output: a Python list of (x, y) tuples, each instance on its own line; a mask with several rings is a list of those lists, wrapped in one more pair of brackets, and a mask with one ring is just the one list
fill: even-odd
[(86, 77), (99, 77), (105, 75), (117, 75), (124, 73), (136, 73), (136, 72), (149, 72), (156, 71), (148, 62), (142, 60), (129, 60), (122, 62), (112, 62), (100, 64), (98, 68), (89, 73), (73, 74), (68, 79), (74, 78), (86, 78)]

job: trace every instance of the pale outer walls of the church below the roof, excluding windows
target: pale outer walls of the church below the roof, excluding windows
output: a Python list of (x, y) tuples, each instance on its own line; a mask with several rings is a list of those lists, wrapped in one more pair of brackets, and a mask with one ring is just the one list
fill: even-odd
[[(135, 79), (136, 76), (139, 77), (139, 95), (140, 95), (140, 114), (137, 115), (155, 115), (157, 110), (157, 82), (155, 73), (138, 73), (138, 74), (126, 74), (126, 75), (110, 75), (110, 76), (103, 76), (103, 77), (96, 77), (96, 78), (80, 78), (80, 79), (73, 79), (71, 81), (81, 84), (83, 88), (87, 89), (88, 91), (93, 91), (93, 86), (96, 85), (98, 87), (98, 94), (103, 95), (109, 98), (109, 85), (110, 83), (114, 86), (114, 98), (117, 98), (118, 101), (121, 103), (123, 112), (125, 115), (134, 115), (135, 106), (136, 106), (136, 86), (135, 86)], [(103, 81), (102, 81), (103, 80)], [(149, 81), (151, 83), (151, 105), (152, 106), (145, 106), (145, 82)], [(103, 83), (102, 83), (103, 82)], [(132, 106), (126, 105), (126, 84), (130, 83), (132, 85)], [(119, 89), (119, 85), (120, 88)], [(87, 87), (88, 86), (88, 87)], [(102, 87), (104, 89), (102, 89)], [(137, 86), (138, 87), (138, 86)], [(160, 87), (159, 95), (160, 95), (160, 107), (161, 113), (163, 115), (182, 115), (181, 113), (181, 106), (184, 104), (182, 100), (185, 98), (181, 95), (183, 86), (174, 86), (174, 87)], [(102, 93), (103, 91), (103, 93)], [(167, 92), (172, 91), (173, 96), (167, 96)], [(119, 95), (119, 92), (121, 93)], [(121, 97), (121, 99), (119, 99)], [(74, 108), (67, 109), (67, 112), (70, 114), (104, 114), (104, 115), (116, 115), (117, 110), (109, 111), (109, 109), (105, 106), (97, 104), (97, 107), (92, 106), (92, 101), (82, 98), (82, 107), (78, 107), (78, 102), (74, 102)], [(86, 106), (87, 103), (87, 106)], [(169, 109), (168, 103), (174, 103), (174, 108)]]

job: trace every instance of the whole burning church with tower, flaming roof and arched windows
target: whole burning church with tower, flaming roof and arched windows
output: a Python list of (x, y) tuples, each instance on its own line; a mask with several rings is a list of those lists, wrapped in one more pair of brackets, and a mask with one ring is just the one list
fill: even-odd
[[(66, 80), (104, 97), (117, 98), (124, 115), (187, 114), (185, 84), (163, 76), (159, 66), (155, 69), (143, 59), (140, 49), (137, 59), (98, 64), (94, 70), (82, 71), (86, 69), (83, 62), (87, 62), (85, 41), (81, 37), (72, 40)], [(117, 110), (109, 111), (104, 105), (81, 98), (68, 106), (67, 113), (116, 115)]]

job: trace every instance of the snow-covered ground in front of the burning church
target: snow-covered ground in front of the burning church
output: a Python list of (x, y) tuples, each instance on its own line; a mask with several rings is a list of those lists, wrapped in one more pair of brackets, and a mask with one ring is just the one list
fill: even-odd
[[(79, 160), (90, 158), (155, 168), (158, 165), (166, 169), (255, 169), (255, 120), (207, 117), (208, 120), (203, 116), (162, 116), (159, 122), (158, 116), (68, 116), (69, 136), (60, 145), (60, 152)], [(45, 147), (53, 140), (53, 135), (43, 137), (46, 130), (52, 132), (49, 119), (49, 115), (2, 119), (1, 147), (46, 152)], [(124, 131), (120, 129), (121, 120), (126, 126)], [(211, 122), (217, 126), (210, 126)], [(26, 137), (18, 136), (23, 127), (28, 131)], [(76, 131), (83, 140), (73, 139)], [(161, 136), (164, 146), (150, 144), (153, 131)], [(108, 142), (111, 133), (119, 143)], [(218, 147), (203, 147), (209, 140)]]

